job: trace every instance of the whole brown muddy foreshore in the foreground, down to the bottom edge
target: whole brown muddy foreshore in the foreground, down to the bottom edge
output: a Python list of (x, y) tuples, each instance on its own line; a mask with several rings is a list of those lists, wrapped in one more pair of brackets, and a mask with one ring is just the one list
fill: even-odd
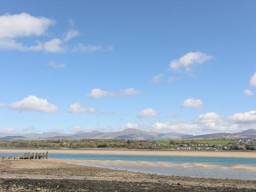
[(0, 160), (0, 191), (255, 191), (256, 181), (143, 174), (62, 160)]

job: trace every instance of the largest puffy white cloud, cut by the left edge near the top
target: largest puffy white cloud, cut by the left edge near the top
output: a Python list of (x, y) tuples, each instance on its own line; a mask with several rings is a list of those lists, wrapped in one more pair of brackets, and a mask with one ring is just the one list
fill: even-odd
[(16, 38), (45, 34), (54, 20), (45, 17), (34, 17), (28, 13), (5, 14), (0, 16), (0, 38)]

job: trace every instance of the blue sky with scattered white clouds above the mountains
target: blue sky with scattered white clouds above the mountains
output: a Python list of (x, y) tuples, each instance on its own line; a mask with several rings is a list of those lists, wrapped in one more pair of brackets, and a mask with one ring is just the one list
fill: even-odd
[(255, 1), (2, 1), (0, 133), (256, 128)]

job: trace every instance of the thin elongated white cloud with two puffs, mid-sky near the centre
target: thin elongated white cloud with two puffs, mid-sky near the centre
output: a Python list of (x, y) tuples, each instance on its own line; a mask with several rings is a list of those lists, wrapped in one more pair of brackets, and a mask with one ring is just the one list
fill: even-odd
[(105, 96), (110, 96), (110, 97), (119, 97), (121, 95), (127, 95), (127, 96), (133, 96), (139, 94), (140, 91), (136, 90), (134, 88), (129, 88), (125, 90), (119, 90), (117, 92), (109, 92), (109, 91), (103, 91), (101, 89), (93, 89), (91, 93), (87, 94), (88, 98), (99, 98), (99, 97), (105, 97)]

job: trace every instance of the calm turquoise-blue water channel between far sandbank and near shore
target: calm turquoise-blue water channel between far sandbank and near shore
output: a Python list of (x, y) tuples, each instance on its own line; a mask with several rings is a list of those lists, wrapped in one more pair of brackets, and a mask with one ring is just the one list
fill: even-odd
[[(1, 154), (0, 154), (1, 155)], [(17, 154), (5, 153), (2, 155), (14, 156)], [(22, 155), (22, 154), (20, 154)], [(137, 156), (137, 155), (89, 155), (89, 154), (50, 154), (51, 159), (75, 160), (109, 160), (112, 163), (80, 163), (83, 165), (99, 166), (114, 169), (132, 170), (135, 172), (156, 173), (163, 175), (214, 177), (232, 179), (256, 180), (256, 158), (224, 158), (224, 157), (184, 157), (184, 156)], [(128, 161), (118, 164), (113, 161)], [(170, 166), (136, 165), (129, 161), (165, 162)], [(195, 163), (198, 163), (195, 165)], [(185, 164), (186, 167), (180, 166)], [(210, 167), (201, 165), (210, 165)], [(233, 167), (240, 165), (242, 168)], [(213, 166), (213, 167), (212, 167)], [(247, 168), (244, 168), (247, 167)], [(254, 169), (250, 169), (252, 167)]]

